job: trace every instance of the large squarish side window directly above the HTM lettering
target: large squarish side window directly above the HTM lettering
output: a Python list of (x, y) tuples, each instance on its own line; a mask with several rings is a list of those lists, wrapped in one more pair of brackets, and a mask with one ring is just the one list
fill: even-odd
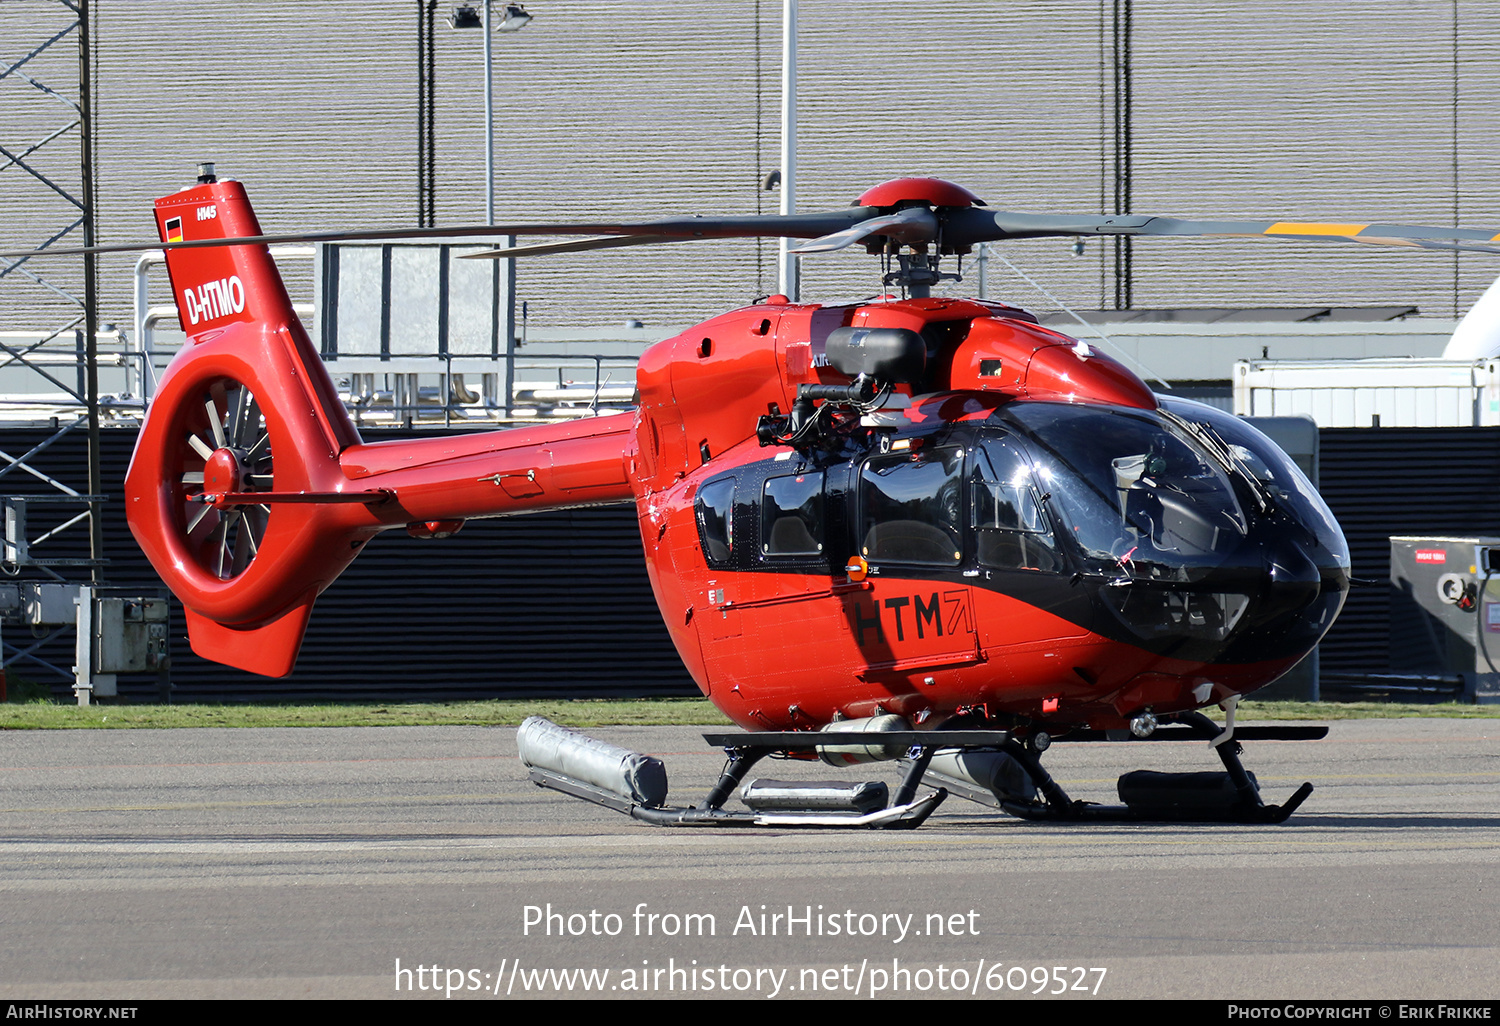
[(870, 459), (860, 474), (860, 555), (951, 567), (963, 560), (963, 448)]

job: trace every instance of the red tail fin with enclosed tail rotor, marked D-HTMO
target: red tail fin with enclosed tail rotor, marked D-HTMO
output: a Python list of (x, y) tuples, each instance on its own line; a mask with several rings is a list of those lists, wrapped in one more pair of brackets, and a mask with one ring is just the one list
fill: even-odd
[[(164, 242), (261, 234), (244, 188), (212, 176), (156, 220)], [(166, 270), (188, 345), (141, 426), (126, 516), (194, 651), (284, 676), (312, 602), (374, 534), (346, 502), (306, 501), (340, 498), (360, 436), (266, 246), (168, 249)]]

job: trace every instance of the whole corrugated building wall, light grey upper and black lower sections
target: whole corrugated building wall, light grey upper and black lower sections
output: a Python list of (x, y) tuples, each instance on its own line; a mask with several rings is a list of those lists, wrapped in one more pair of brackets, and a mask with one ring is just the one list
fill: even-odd
[[(56, 6), (0, 3), (0, 39), (45, 38)], [(250, 186), (272, 231), (414, 224), (418, 6), (94, 0), (100, 240), (148, 237), (152, 200), (186, 184), (204, 159)], [(804, 0), (800, 206), (842, 207), (882, 178), (938, 174), (1000, 208), (1113, 210), (1120, 8)], [(1500, 178), (1488, 166), (1500, 136), (1500, 20), (1485, 0), (1130, 8), (1136, 212), (1500, 224)], [(524, 33), (496, 39), (501, 218), (774, 208), (760, 180), (778, 160), (778, 3), (536, 0), (531, 10)], [(478, 33), (440, 22), (438, 224), (483, 212), (480, 70)], [(27, 72), (76, 78), (76, 54), (52, 48)], [(6, 140), (42, 138), (56, 98), (16, 86), (15, 75), (0, 81)], [(8, 176), (0, 188), (6, 240), (58, 226), (45, 186)], [(1090, 243), (1083, 258), (1060, 242), (1008, 252), (1070, 304), (1113, 304), (1106, 246)], [(686, 326), (770, 291), (771, 255), (735, 242), (663, 248), (650, 264), (609, 252), (537, 260), (519, 272), (519, 298), (534, 326)], [(130, 320), (130, 264), (102, 266), (104, 320)], [(1134, 268), (1143, 308), (1414, 304), (1449, 316), (1497, 262), (1148, 240)], [(1050, 308), (992, 274), (992, 294)], [(804, 282), (804, 297), (830, 298), (868, 294), (876, 278), (844, 254), (808, 261)], [(48, 303), (21, 276), (0, 279), (0, 328), (54, 322)], [(106, 432), (106, 480), (123, 474), (132, 435)], [(1500, 531), (1500, 460), (1490, 452), (1500, 442), (1484, 438), (1476, 460), (1448, 435), (1324, 432), (1324, 488), (1350, 530), (1356, 573), (1383, 576), (1384, 534)], [(50, 459), (63, 460), (60, 476), (63, 465), (81, 472), (69, 446)], [(638, 546), (630, 510), (478, 522), (444, 543), (387, 537), (320, 603), (294, 678), (270, 684), (196, 663), (178, 642), (182, 694), (534, 694), (570, 681), (592, 693), (690, 690)], [(106, 552), (112, 579), (147, 579), (120, 524)], [(538, 552), (546, 568), (532, 562)], [(1378, 669), (1368, 640), (1384, 622), (1377, 591), (1352, 600), (1326, 670)]]

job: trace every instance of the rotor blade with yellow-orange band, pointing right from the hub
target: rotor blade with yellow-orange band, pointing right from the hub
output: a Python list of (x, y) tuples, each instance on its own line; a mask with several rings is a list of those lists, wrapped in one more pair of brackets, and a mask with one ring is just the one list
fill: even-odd
[[(1298, 242), (1358, 242), (1376, 246), (1418, 246), (1496, 254), (1500, 231), (1432, 225), (1329, 224), (1320, 220), (1185, 220), (1152, 214), (1026, 214), (958, 210), (944, 231), (956, 244), (1041, 238), (1047, 236), (1178, 236), (1200, 238), (1288, 238)], [(1452, 240), (1452, 242), (1450, 242)]]

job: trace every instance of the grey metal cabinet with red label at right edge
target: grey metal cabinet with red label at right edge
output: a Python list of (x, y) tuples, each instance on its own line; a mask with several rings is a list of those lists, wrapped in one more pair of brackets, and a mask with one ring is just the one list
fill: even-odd
[(1390, 669), (1500, 702), (1500, 538), (1390, 538)]

